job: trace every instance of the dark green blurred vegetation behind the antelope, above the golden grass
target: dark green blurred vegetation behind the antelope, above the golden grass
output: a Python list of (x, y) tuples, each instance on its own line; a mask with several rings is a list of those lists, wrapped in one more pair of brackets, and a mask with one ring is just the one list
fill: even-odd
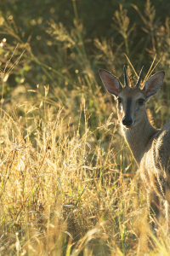
[[(157, 96), (161, 107), (151, 104), (150, 108), (161, 112), (161, 119), (156, 119), (159, 127), (167, 119), (169, 1), (6, 0), (0, 7), (1, 39), (6, 38), (0, 49), (0, 67), (5, 70), (0, 87), (3, 105), (17, 102), (19, 106), (23, 101), (37, 105), (38, 93), (43, 94), (43, 86), (48, 86), (48, 98), (55, 106), (69, 108), (68, 115), (74, 120), (83, 92), (88, 111), (93, 113), (90, 125), (94, 126), (109, 114), (102, 104), (105, 89), (99, 68), (108, 69), (123, 81), (122, 67), (128, 64), (124, 53), (137, 73), (144, 66), (144, 75), (156, 55), (156, 61), (161, 58), (156, 71), (164, 69), (167, 73)], [(136, 79), (133, 71), (131, 75)], [(108, 99), (111, 97), (105, 97), (105, 102)]]

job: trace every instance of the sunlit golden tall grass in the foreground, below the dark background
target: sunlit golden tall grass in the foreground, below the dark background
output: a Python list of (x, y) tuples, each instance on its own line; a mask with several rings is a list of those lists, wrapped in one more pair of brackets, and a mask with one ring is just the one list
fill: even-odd
[(3, 110), (0, 255), (168, 255), (163, 227), (148, 247), (144, 186), (111, 117), (90, 131), (81, 106), (77, 131), (48, 104), (27, 128)]

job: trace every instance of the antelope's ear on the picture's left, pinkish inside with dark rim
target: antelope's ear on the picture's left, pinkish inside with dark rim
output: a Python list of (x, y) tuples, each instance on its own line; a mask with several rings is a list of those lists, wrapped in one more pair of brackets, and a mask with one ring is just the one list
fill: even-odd
[(122, 85), (118, 79), (105, 69), (99, 69), (100, 78), (102, 79), (105, 89), (113, 96), (118, 96), (122, 90)]

